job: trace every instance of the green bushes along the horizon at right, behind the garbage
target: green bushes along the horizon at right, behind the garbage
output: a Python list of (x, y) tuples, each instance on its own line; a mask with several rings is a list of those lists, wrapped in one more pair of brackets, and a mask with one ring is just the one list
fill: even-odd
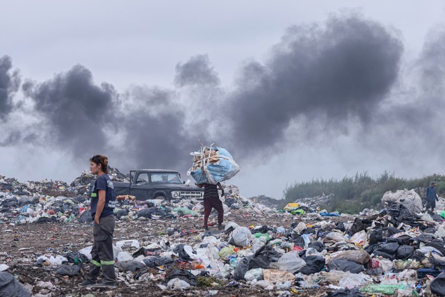
[(332, 200), (321, 207), (327, 211), (341, 211), (347, 214), (357, 214), (363, 209), (380, 209), (381, 199), (387, 191), (412, 189), (423, 198), (424, 189), (435, 181), (438, 195), (445, 193), (445, 176), (430, 175), (417, 179), (395, 177), (394, 173), (383, 172), (378, 177), (370, 177), (368, 172), (355, 174), (343, 179), (314, 179), (310, 182), (294, 182), (284, 189), (284, 200), (294, 202), (297, 199), (332, 195)]

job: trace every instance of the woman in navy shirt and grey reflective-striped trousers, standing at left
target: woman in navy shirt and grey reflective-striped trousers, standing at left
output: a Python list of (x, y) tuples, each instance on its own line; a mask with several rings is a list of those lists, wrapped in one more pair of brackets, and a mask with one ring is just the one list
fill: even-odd
[[(116, 287), (114, 271), (113, 232), (115, 226), (115, 193), (113, 182), (108, 176), (108, 158), (95, 155), (90, 159), (90, 171), (97, 176), (91, 191), (91, 216), (93, 242), (90, 271), (79, 286)], [(102, 270), (102, 282), (97, 284), (97, 277)]]

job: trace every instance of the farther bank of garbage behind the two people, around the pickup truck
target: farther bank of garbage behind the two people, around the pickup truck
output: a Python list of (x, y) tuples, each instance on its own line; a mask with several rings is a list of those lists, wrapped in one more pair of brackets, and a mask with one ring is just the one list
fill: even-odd
[[(128, 175), (111, 168), (109, 175), (114, 181), (124, 182)], [(62, 182), (17, 182), (16, 179), (0, 179), (0, 223), (17, 225), (23, 223), (91, 223), (90, 198), (88, 191), (95, 176), (84, 170), (71, 186)], [(275, 209), (253, 203), (240, 195), (236, 186), (225, 187), (225, 197), (221, 198), (226, 214), (244, 209), (261, 214)], [(51, 193), (40, 193), (51, 189)], [(63, 195), (65, 193), (71, 195)], [(202, 200), (123, 200), (115, 208), (118, 220), (158, 220), (175, 219), (179, 216), (192, 216), (197, 219), (204, 211)]]

